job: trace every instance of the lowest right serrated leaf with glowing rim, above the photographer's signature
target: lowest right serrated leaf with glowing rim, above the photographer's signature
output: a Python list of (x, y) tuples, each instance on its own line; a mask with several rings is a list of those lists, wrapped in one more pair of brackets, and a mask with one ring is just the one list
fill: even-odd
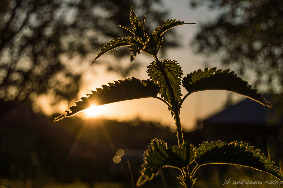
[(248, 144), (242, 142), (227, 142), (213, 141), (203, 142), (196, 149), (197, 155), (195, 162), (198, 167), (207, 164), (233, 164), (255, 168), (263, 172), (267, 172), (276, 178), (283, 181), (283, 176), (276, 166), (273, 166), (273, 161), (269, 161), (269, 157), (263, 157), (263, 153), (259, 153), (259, 149), (248, 147)]

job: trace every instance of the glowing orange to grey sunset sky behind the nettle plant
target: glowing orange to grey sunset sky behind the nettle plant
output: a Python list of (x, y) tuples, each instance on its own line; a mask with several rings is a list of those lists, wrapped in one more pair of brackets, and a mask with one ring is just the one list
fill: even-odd
[[(198, 31), (199, 29), (198, 23), (213, 20), (216, 18), (218, 13), (210, 12), (207, 7), (190, 9), (188, 1), (185, 0), (164, 0), (164, 8), (169, 10), (170, 12), (170, 15), (167, 19), (194, 22), (197, 23), (197, 25), (182, 25), (174, 27), (173, 29), (177, 31), (177, 35), (180, 36), (180, 39), (183, 43), (182, 47), (168, 50), (167, 53), (164, 56), (159, 57), (159, 59), (173, 59), (177, 61), (183, 68), (183, 77), (186, 76), (186, 74), (193, 72), (194, 70), (204, 69), (205, 66), (203, 62), (207, 60), (207, 58), (201, 57), (200, 55), (195, 55), (194, 52), (192, 52), (192, 48), (190, 47), (189, 42), (196, 31)], [(166, 37), (166, 34), (164, 37)], [(92, 62), (94, 57), (95, 56), (88, 57), (87, 59), (85, 59), (85, 61)], [(115, 59), (111, 59), (113, 57), (108, 54), (100, 57), (100, 59), (102, 60), (103, 58), (105, 61), (115, 61)], [(130, 57), (125, 60), (125, 63), (130, 63), (129, 59)], [(142, 62), (141, 67), (138, 71), (132, 72), (129, 77), (133, 76), (138, 79), (148, 79), (149, 76), (146, 73), (147, 65), (149, 65), (153, 61), (153, 58), (145, 54), (139, 54), (137, 55), (135, 60)], [(75, 63), (74, 66), (76, 66)], [(219, 66), (220, 65), (217, 64), (210, 64), (209, 68), (217, 67), (221, 69), (221, 67)], [(80, 92), (78, 94), (78, 96), (80, 97), (85, 97), (85, 94), (91, 93), (91, 90), (95, 90), (95, 88), (101, 88), (101, 85), (107, 85), (108, 82), (125, 79), (119, 74), (107, 72), (104, 66), (98, 65), (95, 66), (95, 68), (81, 68), (85, 69), (85, 74), (83, 74), (82, 79), (86, 84), (80, 89)], [(181, 87), (181, 90), (183, 96), (186, 95), (186, 90), (183, 87)], [(227, 101), (228, 93), (230, 92), (201, 91), (192, 93), (190, 96), (188, 96), (182, 105), (180, 115), (183, 129), (186, 131), (193, 130), (194, 126), (196, 125), (197, 119), (208, 118), (211, 115), (223, 110), (223, 106)], [(243, 97), (233, 94), (232, 99), (233, 101), (240, 101), (243, 99)], [(92, 110), (82, 112), (79, 114), (79, 116), (82, 118), (102, 117), (117, 119), (120, 121), (140, 118), (147, 121), (157, 121), (165, 126), (170, 126), (172, 129), (175, 129), (174, 118), (172, 118), (171, 112), (168, 111), (166, 104), (154, 98), (136, 99), (106, 104), (92, 108)]]

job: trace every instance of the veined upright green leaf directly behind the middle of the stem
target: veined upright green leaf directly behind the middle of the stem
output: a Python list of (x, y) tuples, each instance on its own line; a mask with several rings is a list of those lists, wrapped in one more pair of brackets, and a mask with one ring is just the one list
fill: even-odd
[[(181, 101), (181, 90), (180, 90), (180, 84), (181, 84), (181, 75), (182, 70), (181, 67), (179, 65), (179, 63), (177, 63), (174, 60), (169, 60), (166, 59), (164, 61), (161, 61), (161, 64), (165, 70), (165, 73), (168, 76), (168, 79), (170, 81), (170, 84), (172, 86), (175, 98), (177, 99), (177, 101)], [(161, 93), (161, 97), (164, 97), (164, 100), (169, 102), (171, 104), (171, 95), (170, 95), (170, 91), (169, 88), (167, 86), (166, 80), (160, 70), (160, 67), (158, 66), (158, 64), (156, 63), (156, 61), (152, 62), (149, 66), (147, 66), (147, 73), (149, 73), (148, 75), (150, 76), (151, 79), (155, 80), (156, 82), (158, 82), (158, 84), (161, 87), (160, 93)]]

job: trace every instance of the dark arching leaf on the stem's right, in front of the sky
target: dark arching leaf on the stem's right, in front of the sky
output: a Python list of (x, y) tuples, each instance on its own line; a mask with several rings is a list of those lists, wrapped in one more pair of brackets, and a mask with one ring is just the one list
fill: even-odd
[(187, 74), (182, 81), (183, 86), (189, 92), (189, 94), (196, 91), (204, 90), (227, 90), (235, 93), (239, 93), (250, 99), (257, 101), (265, 106), (272, 107), (272, 105), (265, 101), (265, 98), (261, 96), (261, 93), (257, 93), (256, 89), (251, 89), (252, 86), (243, 79), (237, 77), (234, 72), (226, 70), (216, 70), (216, 68), (194, 71)]

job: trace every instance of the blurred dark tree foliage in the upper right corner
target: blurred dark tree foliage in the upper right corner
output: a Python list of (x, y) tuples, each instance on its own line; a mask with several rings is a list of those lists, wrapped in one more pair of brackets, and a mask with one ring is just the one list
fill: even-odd
[(255, 86), (282, 92), (282, 0), (190, 0), (191, 7), (208, 5), (218, 18), (204, 23), (192, 40), (196, 53), (217, 54), (240, 74), (256, 73)]

